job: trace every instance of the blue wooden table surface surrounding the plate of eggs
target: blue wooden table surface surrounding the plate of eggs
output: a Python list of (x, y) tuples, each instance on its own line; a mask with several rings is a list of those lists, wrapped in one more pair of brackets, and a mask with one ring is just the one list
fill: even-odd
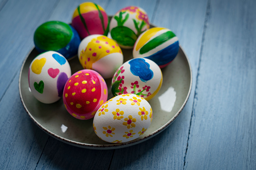
[(29, 118), (19, 95), (36, 28), (71, 22), (79, 0), (0, 1), (0, 169), (256, 169), (256, 1), (97, 0), (108, 15), (134, 5), (173, 30), (193, 70), (190, 98), (153, 138), (113, 150), (75, 147)]

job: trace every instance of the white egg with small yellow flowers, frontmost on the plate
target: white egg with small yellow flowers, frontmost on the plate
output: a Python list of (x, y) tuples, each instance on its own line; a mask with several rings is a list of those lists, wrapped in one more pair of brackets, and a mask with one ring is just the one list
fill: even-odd
[(104, 103), (94, 117), (94, 131), (104, 141), (122, 143), (134, 140), (152, 121), (150, 104), (135, 94), (116, 96)]

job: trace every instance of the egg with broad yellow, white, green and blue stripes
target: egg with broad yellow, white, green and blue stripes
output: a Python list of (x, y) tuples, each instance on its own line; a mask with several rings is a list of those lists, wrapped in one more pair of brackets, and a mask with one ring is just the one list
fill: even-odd
[(163, 68), (175, 59), (178, 52), (176, 35), (169, 29), (155, 27), (139, 36), (133, 48), (133, 57), (153, 60)]

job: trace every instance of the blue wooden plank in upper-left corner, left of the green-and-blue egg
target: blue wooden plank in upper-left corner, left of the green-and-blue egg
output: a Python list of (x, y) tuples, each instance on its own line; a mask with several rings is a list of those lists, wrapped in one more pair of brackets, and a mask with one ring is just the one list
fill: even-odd
[(0, 74), (0, 100), (34, 45), (34, 31), (50, 17), (56, 3), (10, 0), (0, 11), (0, 72), (5, 72)]

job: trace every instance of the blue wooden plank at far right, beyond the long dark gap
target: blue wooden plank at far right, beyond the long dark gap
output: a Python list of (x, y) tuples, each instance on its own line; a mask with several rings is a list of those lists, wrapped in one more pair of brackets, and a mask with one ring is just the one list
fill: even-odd
[(210, 1), (186, 169), (256, 168), (255, 8)]

